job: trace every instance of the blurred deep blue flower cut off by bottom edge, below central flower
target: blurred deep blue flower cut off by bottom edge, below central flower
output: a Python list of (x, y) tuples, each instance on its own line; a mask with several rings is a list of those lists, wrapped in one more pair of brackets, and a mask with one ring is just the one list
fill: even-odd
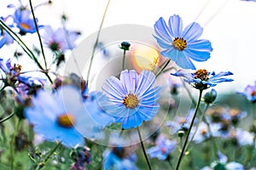
[(103, 169), (136, 170), (133, 156), (125, 154), (124, 147), (113, 147), (112, 150), (105, 150), (103, 153)]

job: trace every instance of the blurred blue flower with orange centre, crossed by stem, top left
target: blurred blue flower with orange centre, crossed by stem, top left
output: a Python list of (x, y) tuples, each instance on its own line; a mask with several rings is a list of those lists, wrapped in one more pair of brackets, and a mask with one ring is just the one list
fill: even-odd
[[(20, 34), (25, 35), (26, 33), (34, 33), (37, 31), (34, 20), (31, 18), (31, 11), (27, 9), (16, 9), (13, 16), (15, 25), (20, 29)], [(38, 19), (37, 19), (38, 22)], [(41, 28), (38, 25), (38, 29)]]

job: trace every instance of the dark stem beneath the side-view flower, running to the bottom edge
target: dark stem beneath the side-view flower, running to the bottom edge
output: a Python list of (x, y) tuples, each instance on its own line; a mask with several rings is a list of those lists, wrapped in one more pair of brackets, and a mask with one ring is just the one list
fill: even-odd
[(198, 97), (198, 100), (197, 100), (197, 104), (196, 104), (196, 106), (195, 106), (195, 112), (194, 112), (192, 121), (191, 121), (191, 123), (190, 123), (189, 130), (188, 130), (186, 139), (185, 139), (184, 144), (183, 144), (183, 149), (182, 149), (182, 151), (181, 151), (181, 153), (180, 153), (180, 156), (179, 156), (179, 158), (178, 158), (178, 161), (177, 161), (176, 170), (178, 170), (178, 168), (179, 168), (179, 166), (180, 166), (180, 163), (181, 163), (182, 158), (183, 158), (183, 154), (184, 154), (185, 149), (186, 149), (186, 145), (187, 145), (188, 140), (189, 140), (189, 134), (190, 134), (190, 131), (191, 131), (192, 127), (193, 127), (193, 124), (194, 124), (194, 121), (195, 121), (195, 117), (196, 117), (196, 113), (197, 113), (197, 111), (198, 111), (198, 109), (199, 109), (199, 105), (200, 105), (200, 102), (201, 102), (201, 94), (202, 94), (202, 91), (203, 91), (203, 90), (199, 90), (199, 97)]

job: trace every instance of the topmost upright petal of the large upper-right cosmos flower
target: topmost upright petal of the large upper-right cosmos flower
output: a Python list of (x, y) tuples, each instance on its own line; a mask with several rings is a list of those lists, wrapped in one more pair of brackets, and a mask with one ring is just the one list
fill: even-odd
[[(183, 32), (183, 20), (177, 14), (170, 16), (169, 18), (169, 28), (173, 38), (181, 37)], [(173, 39), (172, 38), (172, 39)]]

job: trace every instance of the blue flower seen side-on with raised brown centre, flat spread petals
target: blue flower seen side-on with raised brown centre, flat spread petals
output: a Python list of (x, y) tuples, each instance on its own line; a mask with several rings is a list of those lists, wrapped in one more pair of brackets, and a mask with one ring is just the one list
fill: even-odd
[(207, 70), (200, 69), (195, 73), (179, 70), (176, 73), (171, 73), (175, 77), (184, 77), (184, 81), (191, 84), (197, 89), (207, 89), (216, 86), (219, 82), (232, 82), (233, 79), (223, 78), (225, 76), (233, 75), (230, 71), (221, 71), (218, 74), (215, 72), (208, 72)]

